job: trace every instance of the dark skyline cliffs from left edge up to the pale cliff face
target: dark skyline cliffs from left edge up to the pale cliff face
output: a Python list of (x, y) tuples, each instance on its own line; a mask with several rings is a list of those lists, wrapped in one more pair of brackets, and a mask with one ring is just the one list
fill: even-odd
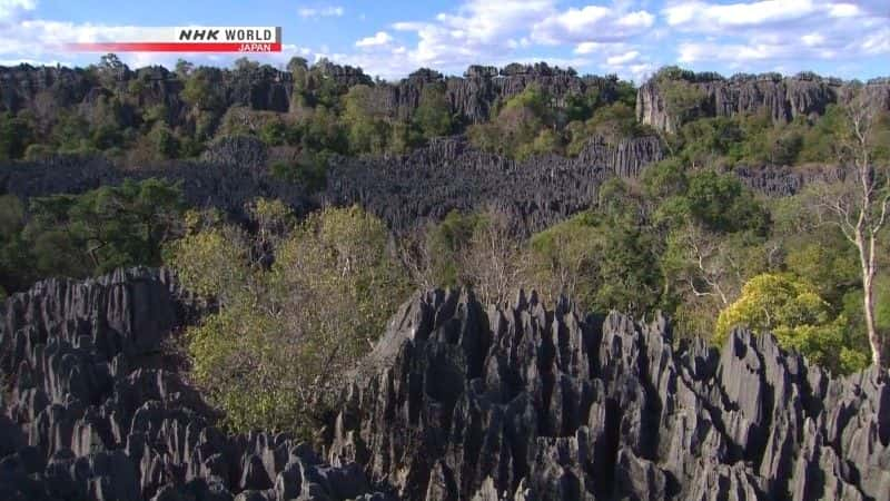
[[(451, 111), (459, 120), (477, 122), (487, 120), (497, 102), (536, 85), (561, 102), (570, 92), (583, 94), (596, 89), (605, 102), (617, 99), (616, 77), (580, 77), (574, 70), (550, 67), (546, 63), (518, 65), (504, 68), (469, 67), (463, 77), (444, 77), (433, 70), (422, 69), (395, 82), (375, 82), (360, 68), (322, 61), (315, 66), (319, 78), (330, 79), (342, 89), (364, 84), (374, 88), (377, 109), (392, 117), (407, 118), (419, 104), (423, 88), (437, 85), (445, 89)], [(217, 106), (233, 106), (255, 110), (285, 112), (290, 109), (295, 90), (307, 82), (295, 85), (294, 76), (270, 66), (248, 67), (238, 70), (209, 69), (206, 71)], [(309, 84), (310, 85), (310, 84)], [(105, 89), (103, 89), (105, 88)], [(176, 73), (162, 67), (137, 70), (119, 68), (100, 80), (97, 71), (63, 67), (0, 67), (0, 110), (41, 110), (91, 107), (109, 90), (119, 96), (130, 96), (140, 107), (164, 105), (171, 126), (185, 124), (188, 105), (180, 96), (184, 85)], [(126, 114), (125, 114), (126, 115)], [(125, 124), (127, 126), (132, 124)]]

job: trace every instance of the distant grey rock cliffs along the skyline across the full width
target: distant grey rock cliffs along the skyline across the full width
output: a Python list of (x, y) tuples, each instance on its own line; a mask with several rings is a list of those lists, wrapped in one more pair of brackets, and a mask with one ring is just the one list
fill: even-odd
[[(339, 86), (365, 84), (373, 87), (375, 108), (394, 118), (413, 115), (419, 104), (423, 88), (431, 84), (443, 85), (451, 111), (461, 121), (474, 124), (491, 118), (492, 110), (528, 85), (536, 85), (562, 102), (570, 94), (584, 94), (595, 89), (603, 102), (617, 99), (619, 80), (614, 76), (578, 76), (574, 70), (536, 65), (512, 63), (504, 68), (471, 66), (461, 77), (448, 77), (419, 69), (395, 82), (375, 82), (360, 68), (322, 61), (317, 66), (324, 78)], [(289, 71), (270, 66), (241, 70), (212, 69), (210, 84), (221, 97), (220, 106), (248, 107), (255, 110), (289, 111), (294, 92), (294, 77)], [(136, 70), (120, 69), (110, 86), (121, 95), (138, 89), (136, 98), (142, 108), (165, 105), (171, 125), (187, 120), (188, 106), (181, 98), (182, 80), (162, 67)], [(775, 121), (790, 121), (798, 116), (821, 115), (825, 107), (843, 99), (848, 82), (814, 73), (782, 76), (779, 73), (735, 75), (725, 78), (713, 72), (683, 72), (683, 79), (701, 89), (706, 101), (702, 116), (733, 116), (765, 112)], [(131, 87), (132, 82), (138, 82)], [(890, 109), (890, 79), (867, 82), (876, 101)], [(65, 67), (0, 67), (0, 110), (18, 111), (23, 108), (87, 107), (107, 92), (99, 86), (93, 71)], [(663, 89), (657, 79), (643, 82), (636, 97), (640, 122), (656, 129), (672, 131)]]

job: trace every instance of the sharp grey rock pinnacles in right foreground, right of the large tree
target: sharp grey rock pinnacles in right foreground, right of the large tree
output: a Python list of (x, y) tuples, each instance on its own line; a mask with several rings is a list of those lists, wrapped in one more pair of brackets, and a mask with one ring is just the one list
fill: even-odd
[(770, 335), (674, 348), (657, 316), (428, 292), (343, 401), (329, 461), (406, 500), (890, 500), (887, 377)]

